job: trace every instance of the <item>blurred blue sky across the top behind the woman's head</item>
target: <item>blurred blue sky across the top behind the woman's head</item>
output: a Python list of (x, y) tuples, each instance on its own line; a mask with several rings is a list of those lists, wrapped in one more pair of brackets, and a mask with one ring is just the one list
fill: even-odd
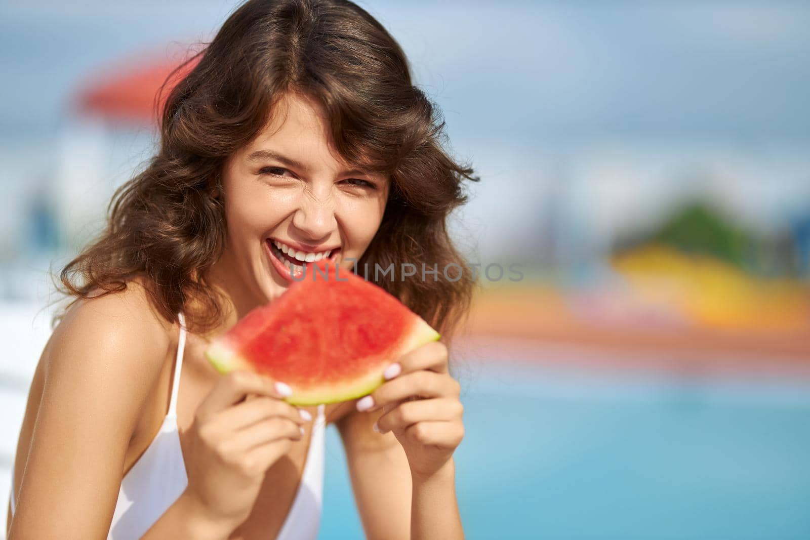
[[(464, 137), (808, 138), (810, 2), (362, 2)], [(0, 130), (100, 62), (209, 35), (232, 2), (0, 4)]]

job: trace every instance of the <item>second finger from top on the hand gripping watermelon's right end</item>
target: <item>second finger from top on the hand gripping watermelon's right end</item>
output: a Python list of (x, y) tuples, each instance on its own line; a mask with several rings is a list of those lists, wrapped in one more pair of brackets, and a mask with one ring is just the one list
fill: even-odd
[(383, 383), (368, 396), (357, 400), (357, 410), (377, 410), (390, 402), (408, 398), (458, 398), (461, 387), (446, 373), (427, 370), (407, 373)]

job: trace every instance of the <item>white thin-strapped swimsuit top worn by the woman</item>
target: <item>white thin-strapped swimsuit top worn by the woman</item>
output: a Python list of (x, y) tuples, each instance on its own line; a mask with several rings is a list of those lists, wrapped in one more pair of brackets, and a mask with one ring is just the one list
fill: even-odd
[[(185, 317), (174, 363), (172, 398), (160, 431), (121, 481), (108, 540), (137, 540), (185, 491), (188, 478), (177, 431), (177, 389), (185, 347)], [(315, 540), (321, 521), (324, 453), (324, 406), (318, 406), (312, 438), (292, 508), (276, 540)], [(14, 467), (11, 468), (11, 514), (14, 514)], [(268, 537), (269, 538), (269, 537)]]

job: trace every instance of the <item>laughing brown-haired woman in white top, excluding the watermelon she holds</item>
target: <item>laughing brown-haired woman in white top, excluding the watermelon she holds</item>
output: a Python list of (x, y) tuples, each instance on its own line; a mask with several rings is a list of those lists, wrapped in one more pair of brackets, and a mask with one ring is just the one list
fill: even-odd
[(368, 538), (463, 538), (446, 343), (391, 359), (367, 397), (300, 409), (283, 381), (220, 376), (203, 351), (309, 253), (438, 268), (377, 284), (450, 336), (474, 282), (441, 271), (466, 268), (445, 222), (477, 177), (352, 2), (247, 2), (193, 62), (156, 155), (62, 270), (72, 301), (32, 381), (9, 538), (315, 538), (329, 422)]

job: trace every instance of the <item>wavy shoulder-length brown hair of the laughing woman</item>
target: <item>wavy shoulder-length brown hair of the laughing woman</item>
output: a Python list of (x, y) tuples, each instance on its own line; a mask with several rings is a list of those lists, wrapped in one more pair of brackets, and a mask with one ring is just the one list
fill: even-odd
[(187, 73), (159, 110), (156, 154), (113, 194), (104, 231), (63, 267), (58, 291), (75, 297), (73, 304), (143, 276), (167, 321), (183, 310), (198, 331), (219, 325), (221, 297), (208, 276), (226, 238), (224, 204), (215, 196), (222, 166), (269, 123), (286, 92), (299, 92), (322, 104), (347, 163), (390, 175), (382, 223), (356, 271), (403, 262), (463, 269), (454, 281), (373, 276), (450, 338), (475, 279), (447, 219), (467, 201), (463, 181), (480, 178), (442, 148), (445, 121), (411, 83), (397, 41), (347, 0), (250, 0), (203, 45), (167, 79)]

